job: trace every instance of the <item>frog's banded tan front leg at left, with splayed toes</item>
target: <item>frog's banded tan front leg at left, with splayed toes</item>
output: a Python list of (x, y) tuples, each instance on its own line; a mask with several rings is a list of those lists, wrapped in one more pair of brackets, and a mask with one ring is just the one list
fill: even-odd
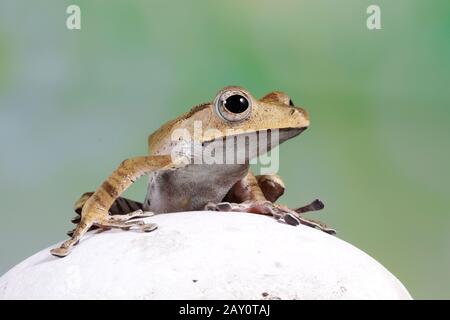
[(109, 215), (109, 209), (114, 201), (142, 175), (175, 168), (170, 155), (136, 157), (123, 161), (85, 202), (81, 220), (72, 237), (59, 248), (52, 249), (51, 253), (58, 257), (66, 256), (92, 226), (122, 229), (138, 226), (144, 231), (153, 230), (154, 224), (145, 224), (140, 219), (148, 216), (148, 213), (135, 211), (125, 215)]

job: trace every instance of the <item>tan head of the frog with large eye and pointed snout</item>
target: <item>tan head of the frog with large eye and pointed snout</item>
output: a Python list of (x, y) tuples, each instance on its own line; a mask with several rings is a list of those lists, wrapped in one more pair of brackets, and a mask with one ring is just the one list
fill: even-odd
[[(256, 99), (244, 88), (233, 86), (219, 91), (212, 102), (194, 107), (167, 123), (150, 136), (149, 142), (154, 152), (167, 153), (185, 141), (184, 137), (180, 138), (180, 132), (203, 146), (243, 135), (254, 136), (259, 141), (264, 134), (269, 140), (265, 152), (297, 136), (308, 126), (306, 111), (295, 106), (287, 94), (274, 91)], [(276, 141), (271, 140), (274, 136)], [(251, 157), (262, 154), (258, 143), (248, 147)]]

